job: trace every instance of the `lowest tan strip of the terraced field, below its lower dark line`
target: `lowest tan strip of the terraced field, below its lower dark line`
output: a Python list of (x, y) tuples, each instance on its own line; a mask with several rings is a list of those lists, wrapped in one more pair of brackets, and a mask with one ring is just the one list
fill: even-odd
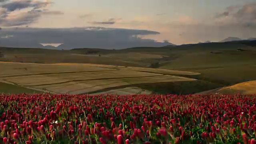
[(156, 82), (182, 82), (194, 81), (196, 79), (184, 78), (179, 76), (148, 76), (138, 78), (118, 78), (118, 79), (102, 79), (102, 80), (85, 80), (80, 82), (67, 82), (63, 84), (51, 84), (49, 86), (33, 86), (34, 88), (45, 88), (46, 90), (57, 93), (82, 94), (103, 90), (106, 88), (115, 88), (118, 86), (129, 86), (133, 84), (145, 84)]

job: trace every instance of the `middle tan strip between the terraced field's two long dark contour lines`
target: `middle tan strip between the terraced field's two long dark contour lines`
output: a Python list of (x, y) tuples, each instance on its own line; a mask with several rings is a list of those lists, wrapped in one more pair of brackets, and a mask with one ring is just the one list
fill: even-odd
[(136, 72), (128, 70), (98, 71), (98, 72), (77, 72), (61, 74), (41, 74), (28, 76), (13, 76), (4, 78), (8, 82), (14, 82), (22, 86), (37, 86), (60, 84), (64, 82), (79, 82), (85, 80), (116, 79), (116, 78), (136, 78), (145, 76), (160, 76), (147, 72)]

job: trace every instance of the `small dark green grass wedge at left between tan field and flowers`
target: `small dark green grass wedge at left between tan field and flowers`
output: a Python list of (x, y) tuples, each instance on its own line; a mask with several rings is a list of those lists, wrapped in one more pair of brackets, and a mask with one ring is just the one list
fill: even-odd
[(43, 92), (0, 82), (0, 94), (41, 94)]

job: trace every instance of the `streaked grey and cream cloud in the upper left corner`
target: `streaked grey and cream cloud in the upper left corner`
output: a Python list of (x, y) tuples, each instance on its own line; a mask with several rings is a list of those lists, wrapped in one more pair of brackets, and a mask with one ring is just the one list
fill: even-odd
[[(12, 0), (0, 6), (0, 26), (22, 26), (37, 22), (42, 15), (62, 15), (61, 11), (50, 11), (52, 4), (37, 0)], [(32, 9), (31, 9), (32, 8)]]

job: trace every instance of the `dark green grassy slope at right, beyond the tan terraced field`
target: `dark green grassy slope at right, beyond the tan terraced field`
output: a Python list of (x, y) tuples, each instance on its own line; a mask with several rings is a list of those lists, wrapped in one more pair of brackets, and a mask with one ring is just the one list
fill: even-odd
[(160, 68), (201, 73), (192, 78), (224, 85), (256, 80), (256, 52), (183, 54)]

